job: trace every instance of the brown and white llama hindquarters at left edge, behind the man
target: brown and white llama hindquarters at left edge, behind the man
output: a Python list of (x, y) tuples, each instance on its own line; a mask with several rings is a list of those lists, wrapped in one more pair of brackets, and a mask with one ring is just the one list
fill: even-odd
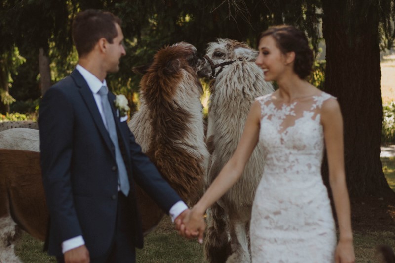
[[(48, 213), (40, 170), (39, 131), (12, 128), (0, 132), (0, 260), (19, 263), (14, 243), (20, 228), (45, 238)], [(23, 182), (23, 183), (21, 183)], [(19, 186), (19, 187), (15, 187)], [(12, 216), (16, 219), (16, 224)]]

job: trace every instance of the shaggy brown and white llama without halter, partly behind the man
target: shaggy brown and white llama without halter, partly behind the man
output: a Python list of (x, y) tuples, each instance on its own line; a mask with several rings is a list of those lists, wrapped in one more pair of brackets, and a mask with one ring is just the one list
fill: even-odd
[[(161, 49), (141, 80), (141, 108), (129, 122), (143, 151), (190, 204), (202, 193), (208, 159), (201, 92), (196, 48), (179, 43)], [(38, 130), (0, 132), (0, 252), (7, 252), (3, 256), (0, 253), (3, 262), (19, 262), (13, 252), (18, 227), (41, 240), (46, 234), (48, 213), (39, 151)], [(163, 212), (140, 189), (137, 198), (147, 234)], [(15, 260), (8, 261), (11, 258)]]

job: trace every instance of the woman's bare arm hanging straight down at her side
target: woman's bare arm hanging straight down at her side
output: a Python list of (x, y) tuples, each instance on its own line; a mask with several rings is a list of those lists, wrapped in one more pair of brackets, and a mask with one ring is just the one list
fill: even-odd
[(336, 100), (329, 99), (324, 102), (321, 121), (328, 156), (330, 188), (333, 194), (340, 232), (335, 260), (341, 263), (354, 262), (350, 200), (344, 168), (343, 118), (339, 103)]

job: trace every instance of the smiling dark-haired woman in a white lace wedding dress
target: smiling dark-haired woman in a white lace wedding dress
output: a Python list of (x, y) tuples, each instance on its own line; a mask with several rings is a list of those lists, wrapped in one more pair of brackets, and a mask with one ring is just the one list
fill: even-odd
[[(202, 241), (203, 214), (240, 177), (255, 146), (266, 161), (250, 225), (253, 262), (355, 261), (343, 155), (343, 120), (336, 98), (305, 78), (313, 55), (303, 32), (275, 26), (261, 33), (256, 64), (278, 89), (253, 103), (234, 155), (178, 229)], [(335, 223), (321, 178), (326, 146)]]

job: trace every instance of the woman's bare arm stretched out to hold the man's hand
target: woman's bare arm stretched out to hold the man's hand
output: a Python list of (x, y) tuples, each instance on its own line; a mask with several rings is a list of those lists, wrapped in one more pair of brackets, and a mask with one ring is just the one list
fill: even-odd
[(201, 229), (203, 215), (212, 204), (224, 195), (240, 178), (245, 164), (251, 156), (259, 139), (261, 119), (261, 105), (255, 101), (248, 113), (244, 131), (240, 142), (231, 159), (225, 164), (217, 178), (213, 181), (203, 197), (192, 208), (190, 215), (184, 219), (183, 223), (189, 232), (200, 233), (199, 241), (202, 238), (204, 229)]

